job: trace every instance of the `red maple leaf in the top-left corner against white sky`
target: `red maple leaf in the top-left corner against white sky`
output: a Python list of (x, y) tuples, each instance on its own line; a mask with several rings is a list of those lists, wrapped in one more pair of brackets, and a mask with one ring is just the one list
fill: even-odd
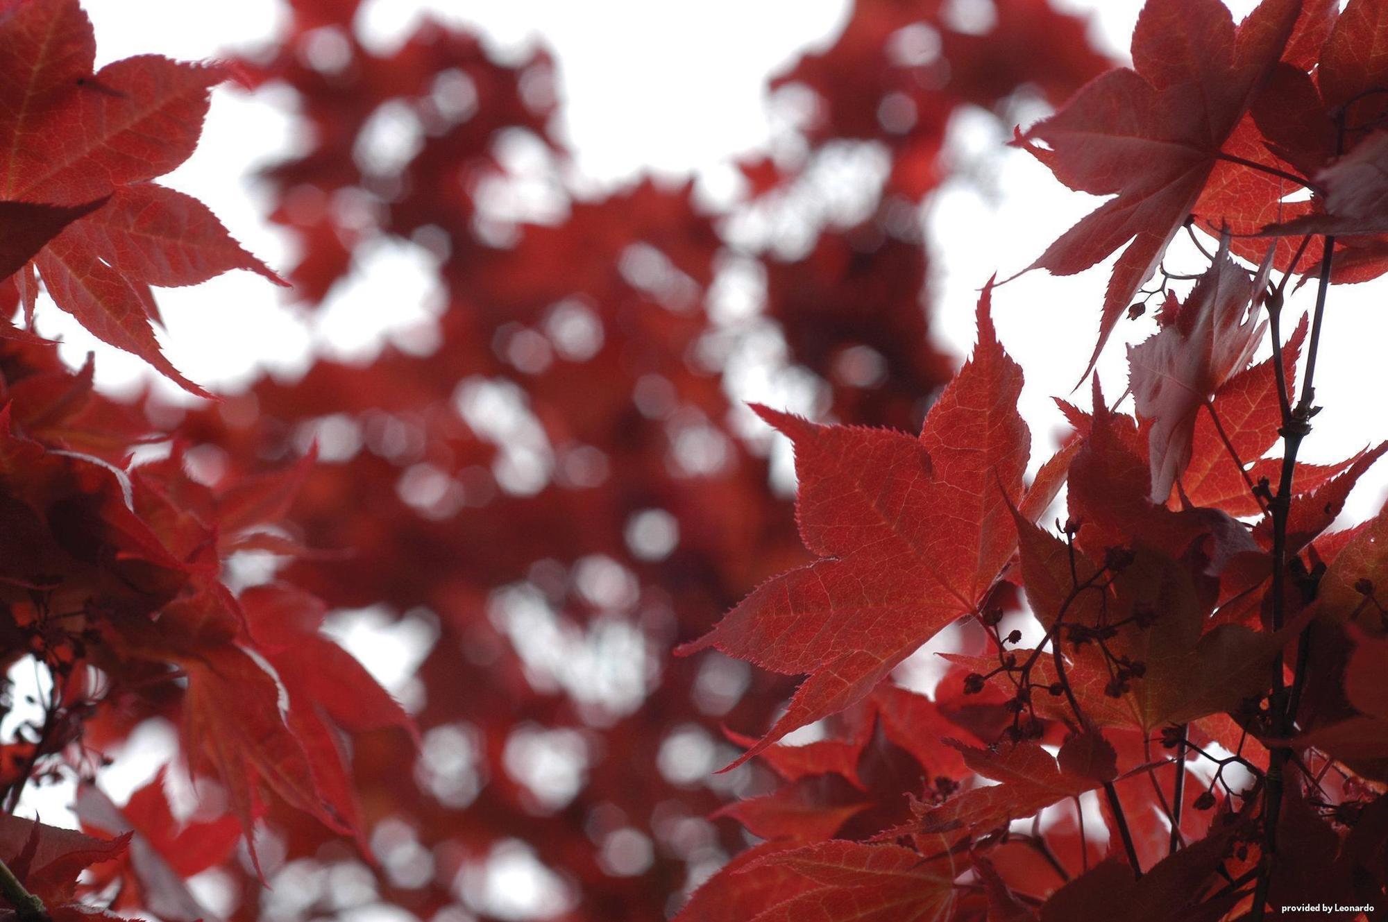
[(94, 56), (76, 0), (32, 0), (0, 18), (0, 275), (22, 269), (32, 317), (35, 258), (61, 310), (205, 397), (164, 358), (149, 286), (235, 268), (279, 278), (197, 200), (147, 181), (193, 153), (222, 71), (140, 56), (93, 74)]

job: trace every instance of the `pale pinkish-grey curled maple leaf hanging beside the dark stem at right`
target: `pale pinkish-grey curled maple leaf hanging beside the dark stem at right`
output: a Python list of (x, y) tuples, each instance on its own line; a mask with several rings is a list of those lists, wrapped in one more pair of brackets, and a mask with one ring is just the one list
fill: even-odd
[(1195, 417), (1235, 372), (1244, 371), (1266, 324), (1251, 315), (1267, 289), (1271, 253), (1258, 274), (1228, 258), (1227, 240), (1174, 317), (1151, 339), (1128, 347), (1130, 386), (1148, 433), (1152, 501), (1166, 503), (1191, 460)]

